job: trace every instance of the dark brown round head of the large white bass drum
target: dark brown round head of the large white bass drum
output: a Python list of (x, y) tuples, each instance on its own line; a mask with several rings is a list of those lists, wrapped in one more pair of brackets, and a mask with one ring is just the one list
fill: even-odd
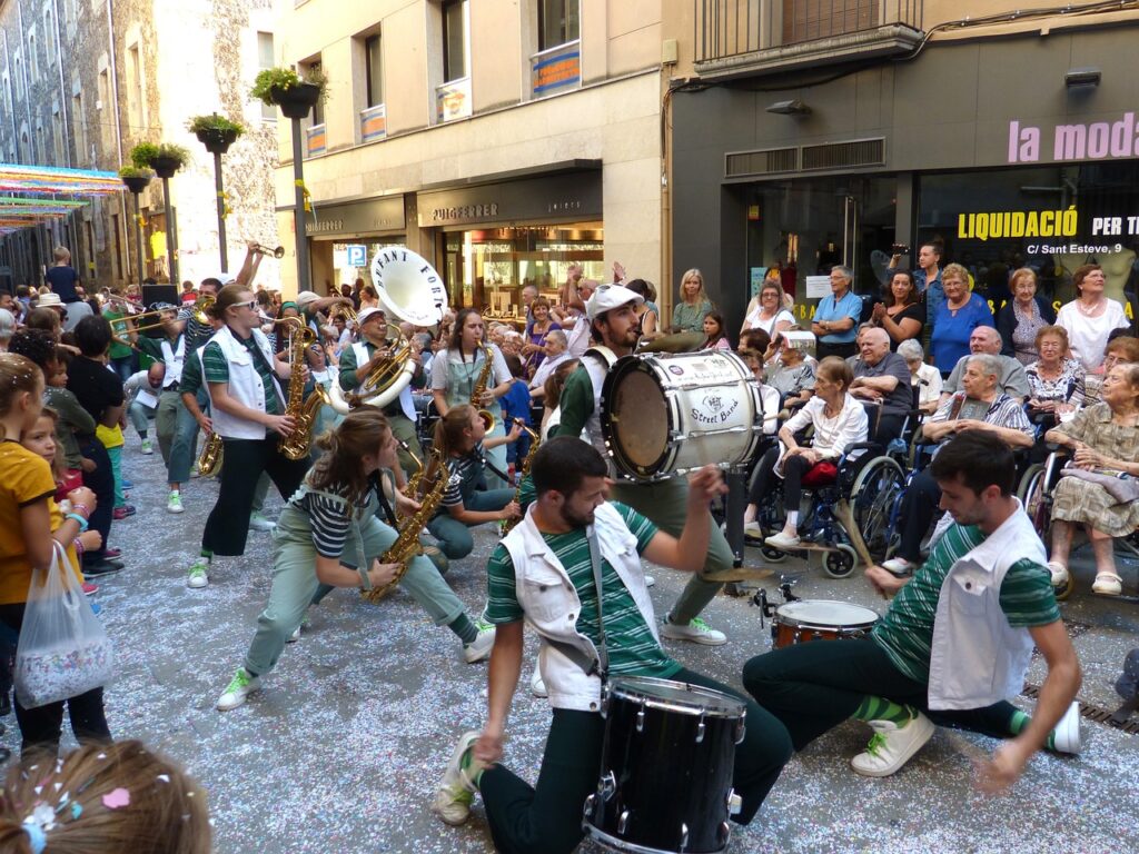
[(641, 474), (659, 468), (669, 450), (669, 404), (647, 367), (632, 362), (614, 377), (606, 403), (614, 457)]

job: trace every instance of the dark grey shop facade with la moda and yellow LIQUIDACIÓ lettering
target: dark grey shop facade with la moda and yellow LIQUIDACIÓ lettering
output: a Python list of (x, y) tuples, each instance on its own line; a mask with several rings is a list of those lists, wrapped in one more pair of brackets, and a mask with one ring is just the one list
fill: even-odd
[[(1133, 294), (1139, 99), (1131, 3), (677, 0), (666, 210), (673, 278), (731, 318), (770, 266), (802, 318), (845, 263), (875, 294), (923, 243), (990, 302), (1030, 265), (1056, 302), (1104, 265)], [(836, 11), (839, 9), (841, 11)], [(1129, 313), (1132, 307), (1129, 306)]]

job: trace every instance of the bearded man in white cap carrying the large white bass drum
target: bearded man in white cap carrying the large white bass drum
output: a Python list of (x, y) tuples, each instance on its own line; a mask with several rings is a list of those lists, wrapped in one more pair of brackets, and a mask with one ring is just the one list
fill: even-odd
[[(605, 437), (601, 435), (601, 385), (612, 361), (636, 350), (640, 337), (637, 306), (644, 301), (642, 296), (621, 285), (600, 285), (585, 304), (593, 337), (601, 346), (585, 351), (581, 367), (566, 381), (560, 400), (562, 422), (555, 435), (581, 436), (584, 430), (590, 444), (606, 455)], [(612, 354), (612, 360), (605, 351)], [(685, 525), (687, 493), (688, 486), (679, 477), (654, 483), (617, 479), (613, 485), (614, 501), (644, 514), (672, 536), (680, 536)], [(693, 575), (665, 616), (661, 634), (670, 640), (713, 647), (727, 643), (724, 633), (708, 626), (699, 618), (699, 613), (723, 586), (723, 582), (706, 581), (703, 576), (731, 568), (732, 553), (728, 541), (720, 528), (712, 525), (704, 567)]]

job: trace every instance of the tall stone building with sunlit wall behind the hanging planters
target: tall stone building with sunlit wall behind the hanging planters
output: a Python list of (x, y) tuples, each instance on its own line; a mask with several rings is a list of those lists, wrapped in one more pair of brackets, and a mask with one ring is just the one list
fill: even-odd
[[(117, 171), (138, 142), (173, 142), (191, 159), (170, 181), (180, 278), (220, 270), (213, 158), (186, 130), (220, 113), (246, 133), (223, 157), (230, 266), (244, 241), (276, 245), (272, 167), (276, 113), (247, 97), (259, 68), (274, 64), (271, 0), (0, 0), (0, 159)], [(66, 220), (0, 239), (10, 282), (38, 282), (63, 244), (83, 278), (137, 281), (130, 194), (92, 203)], [(140, 196), (144, 273), (163, 279), (162, 183)], [(277, 263), (260, 281), (277, 284)]]

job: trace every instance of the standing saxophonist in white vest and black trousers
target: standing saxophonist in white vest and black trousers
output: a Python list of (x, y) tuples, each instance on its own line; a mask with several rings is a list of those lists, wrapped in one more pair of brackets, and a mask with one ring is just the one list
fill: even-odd
[[(296, 492), (309, 469), (308, 458), (290, 460), (277, 443), (296, 425), (286, 412), (278, 377), (288, 379), (289, 363), (277, 359), (259, 328), (261, 315), (253, 291), (227, 285), (218, 291), (210, 314), (223, 326), (202, 348), (202, 373), (210, 394), (212, 426), (222, 437), (224, 465), (218, 502), (202, 532), (202, 555), (189, 568), (186, 585), (204, 588), (214, 555), (245, 552), (253, 492), (262, 473), (281, 498)], [(303, 381), (303, 377), (297, 377)]]

